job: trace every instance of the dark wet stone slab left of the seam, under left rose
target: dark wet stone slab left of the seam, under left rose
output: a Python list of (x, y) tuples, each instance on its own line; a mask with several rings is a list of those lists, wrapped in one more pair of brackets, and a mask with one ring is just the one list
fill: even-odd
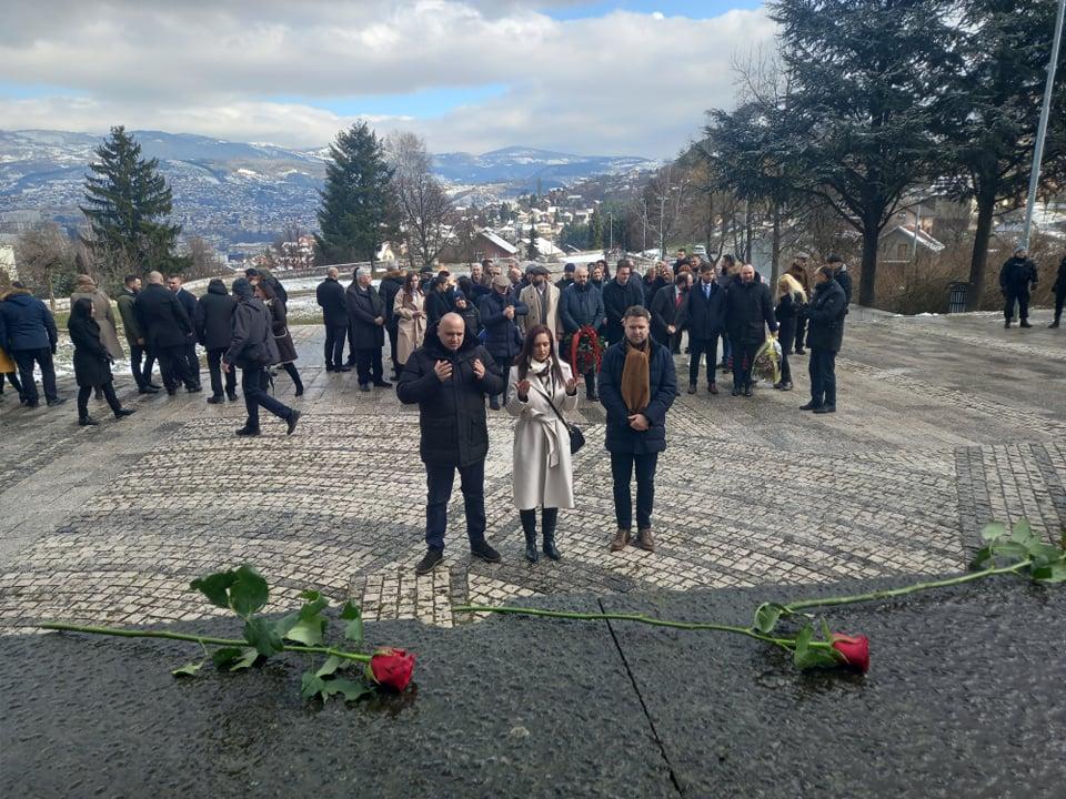
[[(567, 600), (594, 610), (594, 600)], [(233, 636), (232, 623), (191, 628)], [(605, 624), (368, 626), (419, 656), (416, 690), (300, 699), (298, 656), (178, 680), (194, 645), (0, 639), (11, 797), (676, 797)], [(624, 757), (621, 744), (628, 746)]]

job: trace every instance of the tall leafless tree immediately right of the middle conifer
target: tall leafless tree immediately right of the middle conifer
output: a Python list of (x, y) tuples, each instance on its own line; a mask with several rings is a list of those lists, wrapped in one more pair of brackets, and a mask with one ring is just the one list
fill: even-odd
[(452, 201), (433, 176), (425, 142), (414, 133), (390, 133), (385, 158), (394, 169), (392, 188), (411, 265), (428, 266), (453, 237), (449, 225)]

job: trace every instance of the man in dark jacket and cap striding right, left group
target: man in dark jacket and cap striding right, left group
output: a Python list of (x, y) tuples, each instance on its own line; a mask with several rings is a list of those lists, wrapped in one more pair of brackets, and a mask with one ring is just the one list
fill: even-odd
[(241, 391), (244, 392), (244, 408), (248, 418), (237, 431), (239, 436), (259, 435), (259, 408), (270, 411), (284, 419), (286, 435), (292, 435), (300, 419), (300, 412), (282, 405), (266, 393), (266, 366), (278, 363), (278, 345), (271, 331), (270, 310), (252, 294), (252, 284), (244, 277), (233, 281), (237, 309), (233, 311), (233, 336), (222, 360), (227, 373), (239, 366)]

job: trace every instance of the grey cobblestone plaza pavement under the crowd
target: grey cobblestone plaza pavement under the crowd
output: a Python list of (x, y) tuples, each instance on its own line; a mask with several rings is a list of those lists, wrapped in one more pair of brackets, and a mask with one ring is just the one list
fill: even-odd
[(1049, 538), (1066, 523), (1066, 334), (1046, 315), (1028, 331), (986, 314), (851, 322), (832, 416), (797, 409), (802, 356), (792, 393), (682, 393), (660, 461), (655, 554), (606, 549), (603, 412), (582, 403), (589, 445), (580, 506), (561, 514), (564, 557), (529, 565), (510, 503), (511, 419), (492, 413), (489, 536), (503, 563), (471, 563), (456, 490), (445, 564), (425, 577), (413, 572), (424, 552), (416, 409), (392, 391), (359, 392), (354, 373), (324, 373), (318, 327), (294, 328), (305, 395), (276, 380), (304, 412), (292, 437), (265, 416), (263, 436), (238, 439), (242, 403), (138, 397), (124, 375), (120, 395), (139, 413), (115, 423), (101, 408), (95, 428), (74, 424), (73, 402), (31, 412), (8, 396), (0, 628), (193, 619), (212, 609), (190, 579), (244, 562), (275, 586), (279, 610), (316, 588), (360, 599), (369, 619), (443, 626), (461, 620), (456, 604), (533, 594), (957, 570), (987, 520), (1025, 516)]

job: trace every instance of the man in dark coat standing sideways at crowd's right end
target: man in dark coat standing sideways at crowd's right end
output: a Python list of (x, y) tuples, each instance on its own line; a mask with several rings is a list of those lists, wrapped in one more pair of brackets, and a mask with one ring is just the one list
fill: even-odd
[(811, 402), (800, 409), (826, 414), (836, 411), (836, 354), (844, 341), (847, 297), (835, 280), (832, 266), (819, 267), (814, 274), (814, 296), (807, 313)]

